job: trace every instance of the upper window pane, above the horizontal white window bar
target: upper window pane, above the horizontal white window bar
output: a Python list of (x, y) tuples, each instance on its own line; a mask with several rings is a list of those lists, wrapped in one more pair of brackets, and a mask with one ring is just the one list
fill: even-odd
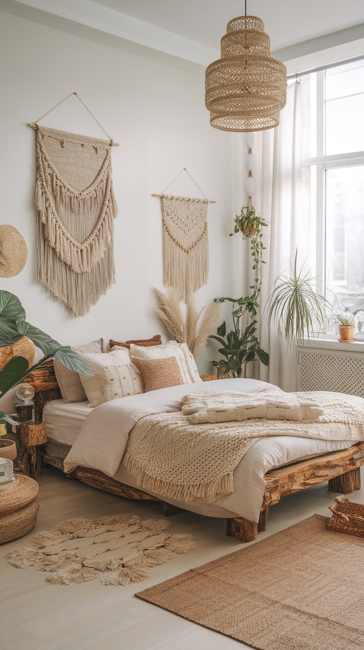
[(326, 155), (364, 151), (364, 62), (326, 70)]

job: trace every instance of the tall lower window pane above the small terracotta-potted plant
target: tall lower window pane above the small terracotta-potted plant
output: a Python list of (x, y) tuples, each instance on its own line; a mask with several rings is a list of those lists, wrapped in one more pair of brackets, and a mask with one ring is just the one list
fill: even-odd
[(364, 307), (364, 166), (326, 170), (326, 282), (342, 307)]

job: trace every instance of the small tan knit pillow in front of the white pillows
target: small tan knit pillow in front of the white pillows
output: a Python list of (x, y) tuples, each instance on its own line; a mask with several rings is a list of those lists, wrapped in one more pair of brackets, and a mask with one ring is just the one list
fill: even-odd
[(164, 359), (131, 357), (131, 359), (140, 371), (145, 393), (184, 383), (176, 357), (165, 357)]

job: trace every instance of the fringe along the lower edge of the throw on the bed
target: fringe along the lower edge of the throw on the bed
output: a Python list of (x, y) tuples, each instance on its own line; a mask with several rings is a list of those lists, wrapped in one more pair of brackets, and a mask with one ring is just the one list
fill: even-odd
[(176, 484), (164, 478), (151, 476), (140, 467), (138, 460), (135, 460), (130, 452), (126, 452), (123, 458), (123, 465), (127, 467), (130, 474), (135, 476), (138, 484), (148, 491), (158, 494), (166, 499), (193, 503), (196, 499), (206, 499), (213, 503), (224, 495), (234, 492), (233, 473), (228, 472), (208, 483)]

